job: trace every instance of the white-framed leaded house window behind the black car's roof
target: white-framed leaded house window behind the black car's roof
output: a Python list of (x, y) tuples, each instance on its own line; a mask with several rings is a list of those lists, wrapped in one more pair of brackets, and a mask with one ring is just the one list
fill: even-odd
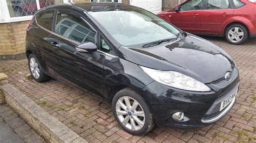
[(30, 20), (39, 9), (69, 2), (72, 0), (0, 0), (0, 23)]

